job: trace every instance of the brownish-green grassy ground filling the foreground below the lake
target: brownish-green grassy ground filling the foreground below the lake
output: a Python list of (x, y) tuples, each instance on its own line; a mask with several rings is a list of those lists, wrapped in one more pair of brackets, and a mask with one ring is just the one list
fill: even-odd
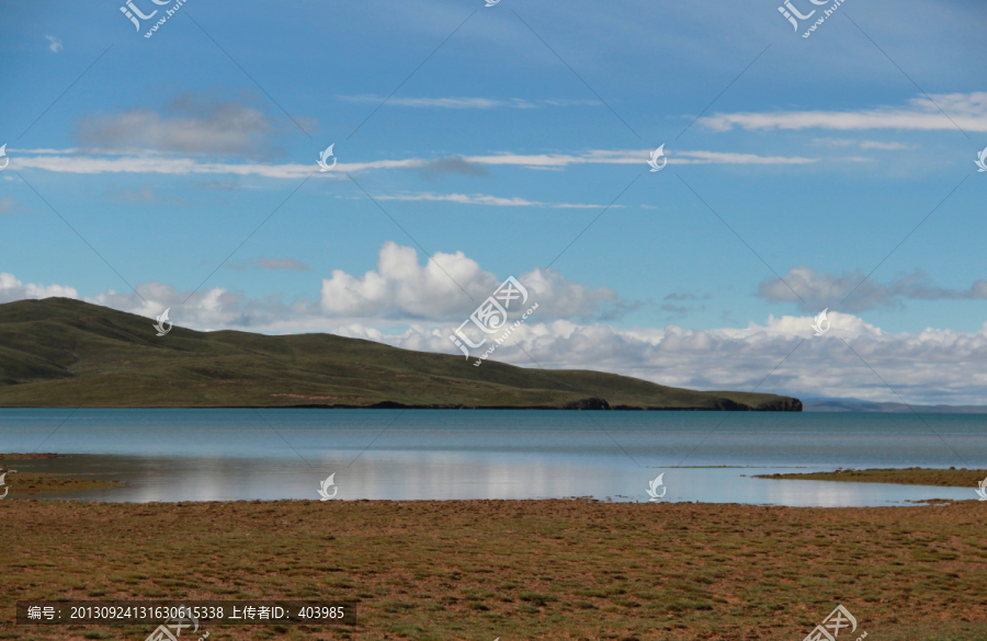
[[(581, 501), (0, 501), (19, 599), (343, 599), (348, 627), (224, 640), (801, 640), (842, 604), (875, 641), (987, 638), (987, 503), (791, 508)], [(202, 633), (202, 632), (200, 632)], [(840, 639), (843, 637), (841, 636)]]

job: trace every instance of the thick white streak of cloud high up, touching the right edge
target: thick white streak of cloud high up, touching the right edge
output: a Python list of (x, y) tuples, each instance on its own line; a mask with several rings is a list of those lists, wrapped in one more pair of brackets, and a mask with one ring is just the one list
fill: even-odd
[(716, 114), (700, 118), (700, 122), (716, 131), (728, 131), (734, 127), (752, 130), (940, 130), (954, 129), (956, 126), (966, 131), (987, 131), (987, 92), (938, 94), (931, 98), (932, 101), (924, 96), (914, 98), (904, 107), (882, 106), (855, 112), (745, 112)]

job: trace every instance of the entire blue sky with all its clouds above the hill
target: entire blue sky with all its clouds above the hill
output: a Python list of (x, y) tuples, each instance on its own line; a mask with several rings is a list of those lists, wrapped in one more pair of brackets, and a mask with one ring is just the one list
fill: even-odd
[(987, 404), (987, 5), (838, 1), (5, 2), (0, 302)]

